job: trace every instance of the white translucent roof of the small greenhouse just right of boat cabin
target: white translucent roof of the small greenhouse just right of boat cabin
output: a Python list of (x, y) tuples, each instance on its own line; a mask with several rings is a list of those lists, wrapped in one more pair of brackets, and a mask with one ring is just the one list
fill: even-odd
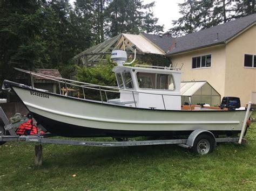
[(181, 82), (180, 94), (181, 96), (192, 96), (206, 83), (206, 81)]

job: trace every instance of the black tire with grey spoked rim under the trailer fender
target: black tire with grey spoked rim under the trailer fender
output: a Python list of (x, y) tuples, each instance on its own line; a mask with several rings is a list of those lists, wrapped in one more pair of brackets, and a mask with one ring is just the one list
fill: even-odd
[(207, 135), (205, 133), (197, 136), (196, 140), (194, 140), (193, 145), (193, 153), (195, 154), (208, 154), (213, 151), (215, 147), (214, 138), (211, 135)]

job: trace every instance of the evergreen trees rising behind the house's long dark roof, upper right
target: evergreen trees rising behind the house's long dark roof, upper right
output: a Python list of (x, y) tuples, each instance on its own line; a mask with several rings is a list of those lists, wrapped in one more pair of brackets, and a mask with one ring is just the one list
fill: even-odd
[(179, 3), (182, 17), (173, 20), (174, 36), (188, 34), (255, 13), (255, 0), (186, 0)]

